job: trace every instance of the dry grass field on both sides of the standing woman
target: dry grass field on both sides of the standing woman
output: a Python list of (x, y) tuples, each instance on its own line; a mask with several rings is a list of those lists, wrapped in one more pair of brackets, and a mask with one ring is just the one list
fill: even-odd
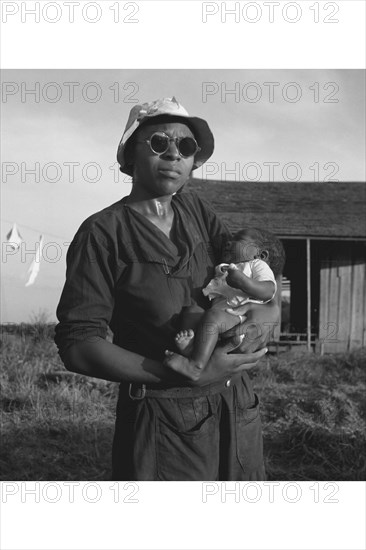
[[(118, 385), (64, 371), (47, 331), (1, 347), (1, 479), (108, 480)], [(365, 375), (366, 350), (267, 356), (251, 372), (269, 480), (365, 480)]]

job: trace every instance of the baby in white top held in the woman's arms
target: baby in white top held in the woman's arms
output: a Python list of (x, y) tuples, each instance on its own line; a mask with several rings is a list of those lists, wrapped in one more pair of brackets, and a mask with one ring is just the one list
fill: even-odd
[(214, 279), (202, 290), (212, 300), (211, 308), (202, 310), (195, 327), (192, 319), (194, 312), (197, 316), (197, 306), (186, 308), (182, 319), (184, 330), (175, 337), (179, 353), (165, 351), (164, 365), (191, 380), (199, 379), (220, 334), (242, 321), (240, 315), (228, 313), (228, 309), (246, 302), (266, 303), (274, 298), (285, 252), (272, 233), (248, 228), (235, 233), (226, 244), (223, 261), (216, 267)]

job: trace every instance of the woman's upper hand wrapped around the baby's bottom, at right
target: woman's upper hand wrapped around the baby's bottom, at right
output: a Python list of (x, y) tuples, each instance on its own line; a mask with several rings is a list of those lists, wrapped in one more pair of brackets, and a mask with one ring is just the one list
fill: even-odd
[(279, 324), (280, 309), (276, 302), (268, 304), (247, 303), (226, 310), (232, 315), (242, 316), (243, 322), (222, 334), (237, 344), (235, 353), (251, 353), (262, 349), (273, 339), (274, 329)]

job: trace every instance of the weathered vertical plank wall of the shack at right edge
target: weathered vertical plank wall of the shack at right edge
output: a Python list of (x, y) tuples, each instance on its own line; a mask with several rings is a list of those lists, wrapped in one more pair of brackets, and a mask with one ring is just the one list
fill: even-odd
[(320, 266), (319, 339), (325, 353), (366, 345), (365, 245), (329, 243)]

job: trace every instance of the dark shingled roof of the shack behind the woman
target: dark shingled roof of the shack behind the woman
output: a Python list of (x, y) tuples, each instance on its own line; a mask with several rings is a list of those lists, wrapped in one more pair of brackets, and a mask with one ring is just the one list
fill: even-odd
[(364, 182), (225, 182), (193, 178), (232, 231), (262, 227), (282, 238), (366, 238)]

